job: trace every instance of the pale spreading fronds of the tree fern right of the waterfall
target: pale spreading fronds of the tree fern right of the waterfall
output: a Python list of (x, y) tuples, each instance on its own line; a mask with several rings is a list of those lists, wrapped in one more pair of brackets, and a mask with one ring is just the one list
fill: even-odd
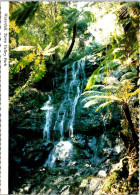
[[(85, 92), (85, 94), (89, 95), (89, 97), (86, 97), (85, 100), (90, 100), (90, 103), (87, 102), (85, 104), (85, 107), (89, 107), (92, 105), (92, 103), (94, 104), (95, 102), (99, 102), (101, 100), (106, 100), (106, 102), (102, 103), (97, 109), (96, 111), (99, 111), (99, 109), (104, 108), (106, 106), (108, 106), (111, 103), (114, 102), (118, 102), (118, 103), (123, 103), (123, 102), (127, 102), (129, 103), (131, 98), (133, 96), (136, 96), (137, 94), (140, 93), (140, 89), (136, 89), (135, 91), (133, 91), (135, 85), (134, 83), (132, 83), (132, 81), (129, 79), (127, 80), (122, 80), (119, 81), (116, 78), (112, 78), (112, 77), (107, 77), (104, 80), (104, 83), (106, 85), (94, 85), (92, 86), (93, 88), (96, 87), (98, 90), (98, 87), (100, 87), (100, 91), (90, 91), (90, 92)], [(111, 91), (110, 91), (111, 90)], [(96, 94), (99, 95), (96, 95)], [(93, 94), (93, 96), (91, 96), (91, 94)]]

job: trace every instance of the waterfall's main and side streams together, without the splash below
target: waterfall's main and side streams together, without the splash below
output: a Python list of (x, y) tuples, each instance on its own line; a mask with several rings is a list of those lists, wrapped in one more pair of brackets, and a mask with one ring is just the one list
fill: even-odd
[[(53, 79), (53, 86), (58, 84), (58, 78)], [(69, 131), (69, 137), (73, 137), (73, 127), (78, 99), (82, 93), (85, 81), (85, 59), (81, 59), (64, 67), (64, 81), (59, 88), (64, 89), (59, 107), (51, 106), (51, 97), (42, 110), (46, 112), (46, 124), (43, 130), (43, 140), (50, 142), (50, 128), (55, 131), (57, 141), (64, 140), (64, 130)], [(55, 122), (52, 123), (52, 114), (55, 114)]]

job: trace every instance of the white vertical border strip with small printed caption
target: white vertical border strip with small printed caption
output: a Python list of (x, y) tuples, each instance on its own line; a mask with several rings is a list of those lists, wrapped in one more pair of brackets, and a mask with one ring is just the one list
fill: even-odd
[[(4, 15), (8, 14), (4, 31)], [(4, 33), (7, 33), (7, 52), (4, 51)], [(7, 58), (6, 66), (4, 57)], [(9, 82), (9, 2), (1, 2), (1, 194), (8, 194), (8, 82)]]

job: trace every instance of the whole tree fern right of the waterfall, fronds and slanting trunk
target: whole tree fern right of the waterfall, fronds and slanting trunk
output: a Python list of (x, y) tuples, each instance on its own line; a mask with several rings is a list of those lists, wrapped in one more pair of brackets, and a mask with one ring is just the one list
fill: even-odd
[(98, 112), (100, 109), (103, 109), (110, 104), (115, 102), (118, 103), (118, 105), (122, 107), (123, 113), (128, 121), (132, 133), (133, 143), (135, 144), (138, 152), (138, 135), (134, 129), (129, 104), (133, 96), (136, 96), (140, 93), (140, 89), (134, 90), (135, 85), (132, 83), (131, 79), (122, 79), (119, 81), (114, 77), (106, 77), (104, 84), (105, 85), (92, 86), (92, 88), (101, 88), (99, 95), (96, 95), (97, 91), (87, 91), (84, 93), (87, 95), (90, 93), (90, 96), (84, 99), (88, 100), (88, 102), (85, 104), (85, 107), (100, 103), (96, 109), (96, 112)]

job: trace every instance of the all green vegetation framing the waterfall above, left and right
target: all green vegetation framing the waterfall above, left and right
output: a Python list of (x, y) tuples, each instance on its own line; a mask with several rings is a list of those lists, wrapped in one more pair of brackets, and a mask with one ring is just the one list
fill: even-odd
[(9, 17), (10, 136), (21, 148), (29, 139), (30, 133), (26, 136), (16, 126), (29, 116), (28, 111), (37, 110), (46, 101), (45, 91), (53, 88), (52, 83), (46, 84), (48, 77), (59, 75), (62, 67), (89, 55), (86, 60), (93, 67), (98, 58), (83, 92), (84, 107), (96, 105), (96, 112), (104, 116), (114, 105), (121, 113), (117, 133), (126, 148), (124, 167), (108, 176), (103, 191), (136, 193), (139, 3), (10, 2)]

